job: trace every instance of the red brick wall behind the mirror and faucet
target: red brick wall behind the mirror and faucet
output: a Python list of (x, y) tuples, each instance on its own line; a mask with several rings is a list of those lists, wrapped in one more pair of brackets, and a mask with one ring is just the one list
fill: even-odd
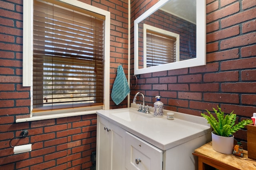
[[(150, 0), (140, 0), (140, 8), (147, 2)], [(256, 3), (206, 0), (206, 4), (207, 64), (142, 74), (138, 86), (131, 90), (131, 102), (140, 91), (150, 106), (156, 101), (154, 96), (159, 95), (165, 109), (191, 115), (200, 116), (216, 105), (225, 113), (234, 110), (239, 121), (256, 112)], [(132, 0), (132, 22), (138, 18), (136, 6)], [(133, 44), (131, 47), (133, 64)], [(246, 149), (246, 128), (234, 136)]]

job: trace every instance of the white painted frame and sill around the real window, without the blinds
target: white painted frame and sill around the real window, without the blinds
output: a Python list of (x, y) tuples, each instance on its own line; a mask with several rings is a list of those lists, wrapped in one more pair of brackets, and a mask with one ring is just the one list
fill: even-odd
[[(78, 0), (60, 0), (61, 2), (78, 6), (92, 12), (105, 16), (105, 39), (104, 39), (104, 106), (102, 109), (109, 109), (110, 105), (110, 12), (88, 5)], [(96, 113), (98, 107), (86, 108), (86, 110), (66, 109), (62, 111), (46, 111), (45, 114), (33, 115), (33, 0), (23, 1), (23, 86), (30, 86), (30, 117), (16, 119), (16, 122), (35, 121), (43, 119), (54, 119), (58, 117), (68, 117), (76, 115), (86, 115)], [(72, 110), (72, 111), (70, 111)]]

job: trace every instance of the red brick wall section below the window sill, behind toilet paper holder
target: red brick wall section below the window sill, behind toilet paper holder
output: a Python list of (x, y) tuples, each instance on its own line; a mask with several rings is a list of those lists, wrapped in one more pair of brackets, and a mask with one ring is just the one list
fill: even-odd
[[(10, 117), (10, 116), (9, 116)], [(1, 117), (5, 121), (6, 117)], [(96, 150), (96, 114), (1, 124), (2, 169), (88, 169), (92, 165), (90, 155)], [(14, 139), (12, 145), (32, 143), (32, 151), (13, 154), (9, 141), (28, 130), (28, 137)]]

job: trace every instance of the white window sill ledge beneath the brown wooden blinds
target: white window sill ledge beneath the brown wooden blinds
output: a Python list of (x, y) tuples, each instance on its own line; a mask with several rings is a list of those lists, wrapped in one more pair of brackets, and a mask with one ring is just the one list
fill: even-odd
[(51, 114), (51, 115), (38, 115), (38, 116), (32, 116), (32, 117), (28, 117), (28, 118), (16, 119), (16, 123), (45, 120), (45, 119), (55, 119), (55, 118), (60, 118), (60, 117), (90, 115), (90, 114), (95, 114), (95, 113), (96, 113), (96, 110), (90, 110), (90, 111), (77, 111), (77, 112), (69, 112), (69, 113), (58, 113), (58, 114)]

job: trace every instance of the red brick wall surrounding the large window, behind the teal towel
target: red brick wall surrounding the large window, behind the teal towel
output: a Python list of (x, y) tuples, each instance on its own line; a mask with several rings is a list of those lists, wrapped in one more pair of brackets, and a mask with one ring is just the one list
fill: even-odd
[[(128, 74), (128, 1), (81, 1), (111, 12), (111, 92), (118, 63)], [(22, 13), (23, 0), (0, 0), (0, 169), (90, 170), (96, 114), (15, 123), (30, 113), (30, 88), (22, 87)], [(118, 107), (127, 107), (127, 99)], [(28, 137), (12, 145), (32, 143), (32, 151), (14, 155), (9, 141), (22, 130), (28, 130)]]

